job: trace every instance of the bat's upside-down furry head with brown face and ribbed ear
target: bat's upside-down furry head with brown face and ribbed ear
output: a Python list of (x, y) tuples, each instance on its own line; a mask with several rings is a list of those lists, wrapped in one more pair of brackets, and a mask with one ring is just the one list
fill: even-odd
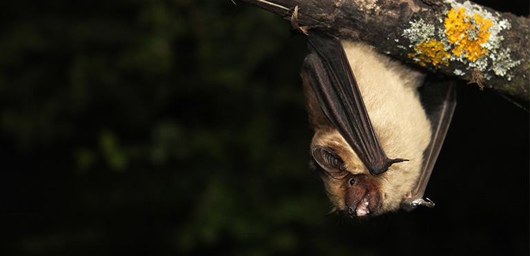
[(345, 213), (349, 217), (398, 210), (418, 178), (411, 161), (394, 164), (381, 175), (372, 175), (333, 128), (315, 132), (311, 155), (333, 204), (332, 213)]

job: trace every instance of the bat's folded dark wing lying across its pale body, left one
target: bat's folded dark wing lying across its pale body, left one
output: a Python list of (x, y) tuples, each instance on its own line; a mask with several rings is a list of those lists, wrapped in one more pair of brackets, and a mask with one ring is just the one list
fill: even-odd
[(389, 159), (380, 144), (342, 44), (317, 32), (306, 37), (308, 77), (320, 108), (372, 175), (404, 159)]

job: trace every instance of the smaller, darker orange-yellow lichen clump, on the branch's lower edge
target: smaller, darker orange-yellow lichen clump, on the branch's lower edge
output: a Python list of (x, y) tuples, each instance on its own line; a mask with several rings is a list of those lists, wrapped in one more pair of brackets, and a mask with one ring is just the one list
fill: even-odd
[(418, 59), (416, 62), (420, 66), (426, 66), (426, 63), (432, 63), (433, 66), (443, 64), (449, 66), (449, 62), (445, 59), (449, 59), (451, 55), (444, 49), (444, 43), (436, 39), (430, 39), (429, 41), (422, 41), (414, 48), (415, 53), (409, 53), (409, 58)]

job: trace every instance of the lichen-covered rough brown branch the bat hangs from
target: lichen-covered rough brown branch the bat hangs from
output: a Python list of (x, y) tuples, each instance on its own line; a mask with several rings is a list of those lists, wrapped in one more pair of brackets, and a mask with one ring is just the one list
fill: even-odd
[[(241, 0), (433, 72), (529, 101), (530, 19), (461, 0)], [(310, 30), (311, 31), (311, 30)]]

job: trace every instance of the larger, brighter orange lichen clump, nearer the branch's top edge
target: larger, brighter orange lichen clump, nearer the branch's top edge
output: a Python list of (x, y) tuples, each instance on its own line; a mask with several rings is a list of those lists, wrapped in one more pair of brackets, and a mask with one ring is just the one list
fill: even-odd
[(467, 59), (475, 61), (488, 53), (488, 49), (481, 44), (487, 43), (491, 27), (491, 21), (483, 19), (480, 14), (475, 14), (474, 19), (464, 14), (464, 8), (458, 8), (458, 12), (451, 8), (444, 21), (445, 34), (449, 42), (455, 47), (453, 54), (459, 56), (465, 51)]

